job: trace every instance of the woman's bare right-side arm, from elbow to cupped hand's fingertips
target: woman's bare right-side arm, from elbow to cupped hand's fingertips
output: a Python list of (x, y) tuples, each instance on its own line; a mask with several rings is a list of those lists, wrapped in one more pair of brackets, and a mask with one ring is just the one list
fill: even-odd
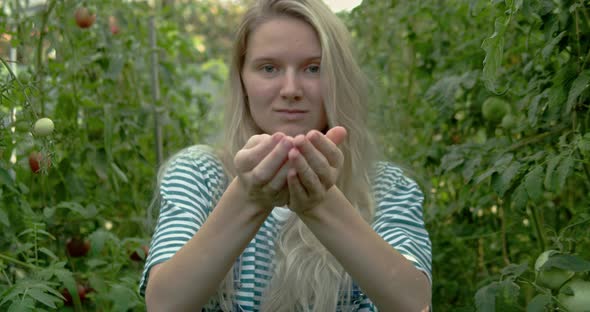
[(369, 298), (383, 311), (422, 311), (430, 305), (425, 274), (379, 236), (334, 185), (343, 155), (330, 137), (310, 132), (294, 139), (289, 153), (289, 208), (336, 257)]

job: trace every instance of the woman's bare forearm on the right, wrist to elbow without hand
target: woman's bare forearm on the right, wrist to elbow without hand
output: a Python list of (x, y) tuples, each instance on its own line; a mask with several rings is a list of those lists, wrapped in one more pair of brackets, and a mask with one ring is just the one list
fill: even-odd
[(426, 275), (381, 238), (337, 187), (320, 206), (299, 217), (380, 311), (428, 308)]

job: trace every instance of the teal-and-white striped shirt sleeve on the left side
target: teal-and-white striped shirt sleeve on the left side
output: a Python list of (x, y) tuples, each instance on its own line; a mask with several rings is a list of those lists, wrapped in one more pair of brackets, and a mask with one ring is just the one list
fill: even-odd
[(139, 284), (145, 296), (150, 269), (170, 258), (203, 225), (226, 186), (210, 148), (195, 145), (172, 156), (160, 181), (160, 211)]

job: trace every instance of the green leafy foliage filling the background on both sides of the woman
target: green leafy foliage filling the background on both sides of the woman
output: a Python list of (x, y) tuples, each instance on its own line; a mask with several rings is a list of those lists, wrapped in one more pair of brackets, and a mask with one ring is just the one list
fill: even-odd
[[(96, 23), (80, 29), (83, 3), (17, 3), (0, 15), (0, 309), (145, 310), (129, 255), (152, 229), (155, 123), (164, 157), (216, 138), (243, 6), (91, 2)], [(383, 156), (427, 195), (435, 310), (563, 310), (533, 264), (555, 249), (547, 269), (590, 271), (590, 1), (365, 0), (340, 15), (373, 82)], [(486, 101), (509, 117), (485, 118)], [(44, 116), (56, 130), (35, 137)], [(51, 158), (39, 174), (33, 151)], [(68, 256), (72, 237), (90, 241), (87, 256)], [(76, 283), (93, 291), (64, 307)]]

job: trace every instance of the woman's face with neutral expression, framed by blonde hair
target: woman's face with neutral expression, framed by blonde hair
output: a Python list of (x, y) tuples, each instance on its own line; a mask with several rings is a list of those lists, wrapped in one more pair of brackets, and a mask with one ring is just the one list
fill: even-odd
[(327, 127), (321, 57), (314, 29), (295, 18), (271, 19), (250, 34), (242, 81), (250, 114), (264, 133), (295, 136)]

